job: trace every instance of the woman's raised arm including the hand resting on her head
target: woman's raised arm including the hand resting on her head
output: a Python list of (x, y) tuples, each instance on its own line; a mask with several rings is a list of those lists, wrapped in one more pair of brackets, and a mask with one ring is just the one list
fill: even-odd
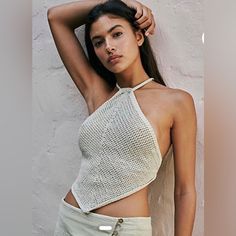
[[(99, 103), (104, 102), (112, 91), (107, 82), (90, 65), (74, 30), (85, 24), (86, 17), (92, 8), (106, 1), (70, 2), (49, 8), (47, 12), (58, 53), (75, 85), (85, 98), (90, 112), (95, 110)], [(151, 10), (135, 0), (122, 1), (136, 10), (135, 17), (140, 29), (145, 29), (146, 34), (153, 34), (155, 21)]]

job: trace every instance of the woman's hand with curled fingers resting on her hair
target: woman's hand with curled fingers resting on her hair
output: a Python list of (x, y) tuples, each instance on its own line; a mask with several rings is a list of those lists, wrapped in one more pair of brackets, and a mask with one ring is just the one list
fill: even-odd
[(144, 29), (145, 35), (154, 34), (154, 28), (156, 26), (155, 19), (152, 14), (152, 10), (142, 3), (135, 0), (122, 0), (128, 7), (136, 10), (135, 18), (140, 29)]

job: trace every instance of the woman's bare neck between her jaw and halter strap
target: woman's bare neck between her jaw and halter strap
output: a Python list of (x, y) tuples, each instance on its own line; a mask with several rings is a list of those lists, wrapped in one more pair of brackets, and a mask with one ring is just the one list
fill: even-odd
[(115, 76), (116, 82), (120, 87), (134, 87), (149, 78), (143, 68), (140, 57), (126, 70), (115, 74)]

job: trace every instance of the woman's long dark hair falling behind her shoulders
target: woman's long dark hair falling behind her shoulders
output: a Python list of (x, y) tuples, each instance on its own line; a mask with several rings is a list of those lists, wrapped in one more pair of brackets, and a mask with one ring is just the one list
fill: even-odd
[[(123, 3), (120, 0), (108, 0), (105, 3), (98, 4), (89, 12), (87, 16), (87, 21), (85, 24), (85, 45), (88, 52), (89, 62), (91, 66), (94, 68), (94, 70), (108, 82), (110, 87), (114, 88), (116, 83), (115, 74), (107, 70), (100, 62), (94, 51), (93, 44), (90, 39), (91, 25), (100, 16), (105, 14), (117, 15), (119, 17), (126, 19), (130, 23), (134, 31), (139, 30), (139, 26), (137, 25), (135, 19), (136, 10), (128, 7), (125, 3)], [(149, 39), (145, 36), (144, 31), (142, 31), (142, 33), (144, 35), (144, 42), (139, 47), (139, 51), (143, 68), (150, 78), (154, 78), (154, 81), (166, 86), (158, 70), (151, 45), (149, 43)]]

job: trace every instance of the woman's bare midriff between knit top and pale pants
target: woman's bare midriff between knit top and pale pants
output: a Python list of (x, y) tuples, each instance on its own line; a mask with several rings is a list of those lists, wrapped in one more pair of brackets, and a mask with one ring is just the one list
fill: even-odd
[[(129, 195), (128, 197), (112, 202), (103, 207), (97, 208), (92, 212), (113, 217), (150, 216), (147, 192), (148, 189), (147, 187), (145, 187), (139, 190), (138, 192)], [(67, 193), (64, 200), (72, 206), (80, 208), (71, 190)]]

